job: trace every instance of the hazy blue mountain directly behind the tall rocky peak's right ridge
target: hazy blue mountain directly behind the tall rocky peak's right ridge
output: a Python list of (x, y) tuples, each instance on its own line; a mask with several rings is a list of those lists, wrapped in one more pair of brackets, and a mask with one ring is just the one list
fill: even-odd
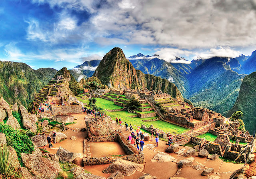
[(130, 62), (137, 70), (142, 71), (144, 74), (152, 74), (154, 76), (165, 78), (174, 83), (184, 97), (189, 96), (190, 86), (187, 78), (182, 72), (174, 68), (172, 64), (165, 60), (154, 58), (154, 56), (148, 58), (143, 54), (137, 54), (136, 56), (131, 56), (128, 59), (130, 59)]

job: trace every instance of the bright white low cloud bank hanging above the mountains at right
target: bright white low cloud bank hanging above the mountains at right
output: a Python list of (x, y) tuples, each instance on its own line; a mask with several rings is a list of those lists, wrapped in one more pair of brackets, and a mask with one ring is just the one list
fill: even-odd
[(242, 54), (240, 51), (232, 50), (230, 48), (222, 48), (219, 49), (211, 48), (210, 50), (204, 52), (203, 54), (197, 54), (196, 59), (208, 59), (212, 57), (232, 57), (235, 58)]

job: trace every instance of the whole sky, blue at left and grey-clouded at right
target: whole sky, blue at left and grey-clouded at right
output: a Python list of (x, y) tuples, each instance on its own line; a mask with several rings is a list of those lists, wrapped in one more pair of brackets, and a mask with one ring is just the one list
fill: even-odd
[(255, 0), (1, 0), (0, 60), (68, 69), (158, 54), (171, 62), (256, 50)]

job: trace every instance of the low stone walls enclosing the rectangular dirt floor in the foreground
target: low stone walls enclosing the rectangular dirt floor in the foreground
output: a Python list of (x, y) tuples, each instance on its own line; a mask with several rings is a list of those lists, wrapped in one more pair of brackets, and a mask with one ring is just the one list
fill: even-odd
[[(132, 144), (129, 144), (120, 129), (105, 136), (91, 136), (90, 133), (88, 134), (88, 139), (84, 140), (84, 166), (112, 163), (116, 161), (117, 158), (133, 161), (135, 163), (145, 163), (144, 153), (137, 151)], [(121, 157), (91, 157), (90, 142), (111, 141), (118, 141), (118, 143), (121, 145), (127, 155)]]

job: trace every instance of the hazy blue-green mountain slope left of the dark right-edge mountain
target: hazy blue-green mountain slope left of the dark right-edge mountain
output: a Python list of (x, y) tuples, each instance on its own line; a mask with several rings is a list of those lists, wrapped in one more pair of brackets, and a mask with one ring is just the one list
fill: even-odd
[(207, 107), (225, 113), (236, 101), (245, 74), (227, 70), (215, 80), (206, 82), (201, 91), (194, 93), (190, 100), (194, 106)]

